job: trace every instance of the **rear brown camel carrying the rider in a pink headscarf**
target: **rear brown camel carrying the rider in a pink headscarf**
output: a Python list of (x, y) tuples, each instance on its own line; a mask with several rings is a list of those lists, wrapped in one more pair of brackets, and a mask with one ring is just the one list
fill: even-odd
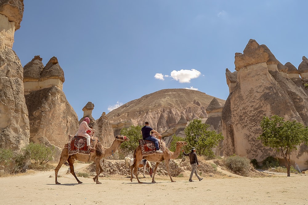
[(129, 139), (126, 136), (115, 136), (115, 140), (113, 141), (112, 145), (108, 148), (104, 147), (100, 142), (98, 142), (95, 146), (94, 152), (91, 152), (90, 159), (88, 155), (81, 155), (81, 154), (75, 154), (75, 155), (68, 155), (67, 148), (64, 148), (61, 153), (60, 161), (58, 166), (55, 168), (55, 182), (56, 184), (61, 184), (58, 182), (58, 172), (61, 168), (62, 164), (66, 161), (68, 161), (68, 164), (70, 165), (71, 174), (75, 177), (77, 182), (80, 184), (82, 183), (79, 181), (77, 176), (75, 175), (74, 171), (74, 162), (75, 160), (79, 160), (82, 162), (88, 162), (88, 161), (94, 161), (96, 164), (96, 176), (93, 178), (94, 182), (96, 181), (97, 184), (101, 184), (98, 180), (98, 176), (100, 173), (103, 172), (103, 167), (99, 163), (100, 160), (104, 157), (111, 156), (120, 146), (122, 142), (129, 141)]

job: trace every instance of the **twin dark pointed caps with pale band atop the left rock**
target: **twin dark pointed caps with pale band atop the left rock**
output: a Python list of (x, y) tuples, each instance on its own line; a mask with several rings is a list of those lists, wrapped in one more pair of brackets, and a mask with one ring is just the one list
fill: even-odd
[(52, 86), (57, 86), (61, 90), (63, 89), (64, 72), (56, 57), (52, 57), (46, 66), (44, 66), (42, 58), (40, 56), (34, 56), (24, 66), (23, 76), (25, 95)]

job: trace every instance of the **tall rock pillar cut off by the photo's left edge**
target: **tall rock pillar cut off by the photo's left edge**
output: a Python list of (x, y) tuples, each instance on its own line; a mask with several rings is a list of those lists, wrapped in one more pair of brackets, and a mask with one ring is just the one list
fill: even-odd
[(29, 144), (30, 126), (23, 95), (23, 68), (12, 50), (23, 1), (0, 1), (0, 148), (18, 151)]

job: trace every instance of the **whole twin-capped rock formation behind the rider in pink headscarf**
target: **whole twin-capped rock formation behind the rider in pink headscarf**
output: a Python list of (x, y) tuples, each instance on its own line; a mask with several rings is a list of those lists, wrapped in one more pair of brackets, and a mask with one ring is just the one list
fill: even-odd
[(24, 66), (25, 98), (29, 112), (30, 141), (49, 142), (59, 148), (79, 127), (78, 116), (63, 93), (64, 72), (52, 57), (46, 66), (35, 56)]

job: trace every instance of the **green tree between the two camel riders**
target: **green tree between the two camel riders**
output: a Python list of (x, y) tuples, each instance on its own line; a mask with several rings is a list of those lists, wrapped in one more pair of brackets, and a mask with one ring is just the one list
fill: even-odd
[(136, 147), (139, 145), (139, 140), (142, 139), (141, 128), (141, 125), (132, 125), (129, 128), (121, 129), (121, 135), (129, 138), (128, 142), (120, 145), (120, 148), (124, 152), (134, 152)]

